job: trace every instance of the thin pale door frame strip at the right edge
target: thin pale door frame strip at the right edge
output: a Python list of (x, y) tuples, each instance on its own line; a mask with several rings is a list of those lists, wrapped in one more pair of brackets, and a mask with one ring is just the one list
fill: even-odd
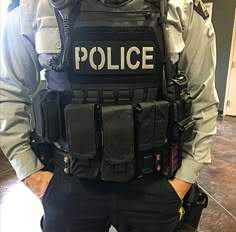
[(231, 41), (232, 42), (231, 42), (230, 58), (229, 58), (229, 65), (228, 65), (228, 74), (227, 74), (227, 81), (226, 81), (226, 91), (225, 91), (223, 116), (226, 115), (227, 101), (228, 101), (228, 95), (229, 95), (229, 85), (230, 85), (230, 78), (231, 78), (231, 66), (232, 66), (232, 62), (233, 62), (234, 50), (236, 50), (236, 8), (235, 8), (235, 14), (234, 14), (233, 33), (232, 33), (232, 40)]

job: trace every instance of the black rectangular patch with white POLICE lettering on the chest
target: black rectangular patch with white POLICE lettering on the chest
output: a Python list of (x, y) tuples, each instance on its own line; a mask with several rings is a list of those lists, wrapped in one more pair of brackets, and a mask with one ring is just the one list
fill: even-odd
[(74, 71), (78, 74), (151, 74), (156, 71), (152, 41), (75, 41)]

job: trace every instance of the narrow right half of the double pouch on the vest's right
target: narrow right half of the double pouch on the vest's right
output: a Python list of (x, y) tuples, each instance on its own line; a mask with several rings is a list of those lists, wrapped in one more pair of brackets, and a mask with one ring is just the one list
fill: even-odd
[(155, 129), (153, 147), (160, 148), (166, 143), (169, 102), (155, 101)]

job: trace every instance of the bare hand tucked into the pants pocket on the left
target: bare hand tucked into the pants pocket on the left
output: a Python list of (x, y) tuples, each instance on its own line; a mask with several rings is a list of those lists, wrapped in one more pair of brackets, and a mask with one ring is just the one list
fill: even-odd
[(38, 171), (24, 179), (23, 183), (42, 200), (52, 176), (52, 172)]

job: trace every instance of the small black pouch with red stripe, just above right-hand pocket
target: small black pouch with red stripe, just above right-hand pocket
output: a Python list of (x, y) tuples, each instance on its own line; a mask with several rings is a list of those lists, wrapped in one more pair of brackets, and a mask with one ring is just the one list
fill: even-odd
[(167, 178), (174, 176), (181, 166), (181, 155), (178, 144), (166, 144), (161, 155), (161, 173)]

